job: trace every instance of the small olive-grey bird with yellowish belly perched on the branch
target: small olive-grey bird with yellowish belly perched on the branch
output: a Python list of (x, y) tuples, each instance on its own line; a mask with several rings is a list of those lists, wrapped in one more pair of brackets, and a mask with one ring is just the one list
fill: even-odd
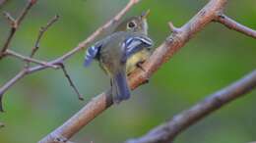
[[(132, 66), (141, 60), (133, 58), (139, 60), (127, 65), (130, 58), (153, 45), (153, 40), (147, 36), (147, 30), (145, 30), (147, 25), (144, 21), (143, 16), (133, 17), (117, 26), (114, 33), (87, 49), (85, 67), (90, 66), (94, 59), (99, 62), (99, 66), (110, 76), (114, 103), (119, 103), (130, 97), (127, 71), (131, 71)], [(119, 29), (121, 27), (125, 27), (125, 29)]]

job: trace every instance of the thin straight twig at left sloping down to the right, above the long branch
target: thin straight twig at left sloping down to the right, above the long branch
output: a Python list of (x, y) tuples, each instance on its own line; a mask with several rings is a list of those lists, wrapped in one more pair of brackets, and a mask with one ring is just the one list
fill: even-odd
[(21, 59), (25, 62), (30, 62), (30, 63), (32, 62), (34, 64), (38, 64), (38, 65), (45, 66), (48, 68), (58, 69), (58, 66), (56, 66), (56, 65), (52, 65), (52, 64), (44, 62), (44, 61), (40, 61), (40, 60), (36, 60), (36, 59), (30, 58), (30, 57), (23, 56), (17, 52), (12, 51), (12, 50), (7, 50), (5, 53), (7, 55), (13, 56), (15, 58)]

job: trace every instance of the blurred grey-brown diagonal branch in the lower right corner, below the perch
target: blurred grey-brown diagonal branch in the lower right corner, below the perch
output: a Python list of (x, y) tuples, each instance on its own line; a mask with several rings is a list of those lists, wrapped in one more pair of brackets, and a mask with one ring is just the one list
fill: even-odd
[(208, 96), (205, 100), (197, 103), (189, 110), (184, 111), (173, 119), (155, 127), (146, 135), (137, 139), (128, 140), (126, 143), (171, 142), (182, 130), (185, 130), (200, 119), (207, 117), (209, 114), (220, 109), (230, 101), (250, 92), (255, 87), (256, 71), (252, 71), (222, 90)]

